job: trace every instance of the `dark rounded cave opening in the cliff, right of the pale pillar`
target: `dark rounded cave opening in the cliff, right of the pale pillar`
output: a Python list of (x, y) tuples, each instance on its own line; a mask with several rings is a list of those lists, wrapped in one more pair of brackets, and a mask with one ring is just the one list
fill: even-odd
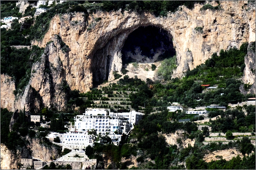
[[(173, 36), (157, 26), (139, 27), (127, 37), (121, 50), (123, 69), (140, 63), (142, 69), (151, 70), (149, 63), (157, 63), (176, 55)], [(136, 73), (136, 72), (135, 72)]]

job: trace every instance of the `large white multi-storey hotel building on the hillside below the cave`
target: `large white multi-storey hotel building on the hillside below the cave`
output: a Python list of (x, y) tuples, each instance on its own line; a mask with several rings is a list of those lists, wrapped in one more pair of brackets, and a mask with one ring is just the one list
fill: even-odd
[(83, 115), (74, 117), (75, 127), (69, 133), (56, 136), (59, 136), (62, 144), (69, 148), (84, 149), (88, 145), (94, 144), (94, 135), (88, 134), (88, 131), (94, 129), (97, 135), (105, 136), (107, 134), (114, 144), (118, 144), (122, 134), (127, 134), (134, 128), (143, 115), (143, 113), (135, 111), (113, 113), (110, 112), (110, 109), (86, 109)]

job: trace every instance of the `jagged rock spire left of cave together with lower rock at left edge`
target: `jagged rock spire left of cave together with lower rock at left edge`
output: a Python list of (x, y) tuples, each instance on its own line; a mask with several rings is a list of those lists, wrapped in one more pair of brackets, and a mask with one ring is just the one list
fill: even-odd
[(67, 104), (66, 75), (71, 69), (69, 55), (61, 49), (61, 39), (52, 37), (39, 61), (31, 68), (31, 78), (23, 93), (14, 96), (15, 82), (1, 74), (1, 107), (14, 112), (16, 109), (38, 112), (43, 107), (64, 110)]

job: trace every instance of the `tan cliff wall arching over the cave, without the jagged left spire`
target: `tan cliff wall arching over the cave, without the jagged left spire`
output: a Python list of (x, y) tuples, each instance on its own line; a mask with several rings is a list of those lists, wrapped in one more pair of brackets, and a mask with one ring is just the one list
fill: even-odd
[[(210, 3), (217, 6), (214, 1)], [(52, 36), (59, 34), (70, 47), (72, 69), (67, 75), (67, 83), (72, 90), (86, 92), (92, 82), (106, 77), (113, 80), (113, 71), (121, 71), (121, 49), (132, 31), (140, 26), (157, 26), (173, 38), (178, 62), (173, 77), (181, 77), (187, 69), (205, 62), (212, 53), (255, 41), (254, 4), (247, 1), (220, 1), (220, 4), (222, 10), (219, 11), (200, 11), (203, 5), (195, 4), (194, 9), (181, 7), (159, 18), (130, 11), (97, 12), (89, 16), (88, 23), (81, 13), (61, 18), (58, 15), (51, 20), (44, 39), (33, 44), (45, 47)], [(203, 33), (195, 31), (196, 27), (202, 27)], [(108, 57), (110, 72), (106, 76)]]

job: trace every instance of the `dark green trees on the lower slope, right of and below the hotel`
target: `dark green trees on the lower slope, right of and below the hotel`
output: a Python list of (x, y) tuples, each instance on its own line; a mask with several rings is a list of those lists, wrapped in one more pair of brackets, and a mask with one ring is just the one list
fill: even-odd
[[(177, 130), (184, 130), (184, 138), (195, 139), (195, 146), (188, 146), (183, 148), (182, 139), (177, 139), (177, 145), (170, 145), (165, 142), (165, 137), (159, 133), (175, 133)], [(221, 164), (217, 165), (219, 161), (211, 161), (206, 163), (203, 161), (203, 156), (209, 152), (216, 150), (226, 150), (236, 147), (243, 155), (252, 153), (255, 147), (251, 144), (248, 137), (243, 137), (241, 140), (233, 140), (228, 144), (222, 142), (211, 142), (209, 144), (202, 144), (205, 136), (208, 136), (208, 130), (197, 131), (195, 123), (178, 123), (170, 122), (170, 112), (163, 110), (154, 115), (145, 115), (143, 120), (140, 120), (139, 125), (135, 125), (132, 133), (127, 138), (123, 136), (121, 144), (115, 146), (110, 140), (105, 140), (105, 144), (95, 143), (94, 147), (86, 147), (86, 155), (89, 158), (97, 158), (99, 161), (98, 169), (112, 168), (112, 169), (126, 169), (127, 162), (120, 163), (121, 158), (130, 158), (130, 156), (137, 156), (137, 161), (140, 162), (138, 169), (184, 169), (183, 166), (176, 166), (178, 161), (186, 161), (188, 169), (234, 169), (239, 167), (241, 169), (252, 169), (255, 167), (255, 153), (251, 156), (244, 157), (238, 164), (233, 164), (234, 161), (239, 160), (239, 157), (233, 158), (231, 161), (221, 159)], [(102, 154), (105, 157), (102, 157)], [(146, 161), (146, 158), (154, 160), (154, 163)], [(112, 164), (109, 167), (103, 166), (103, 159), (111, 159)], [(251, 163), (246, 165), (246, 163)], [(136, 169), (133, 167), (132, 169)]]

